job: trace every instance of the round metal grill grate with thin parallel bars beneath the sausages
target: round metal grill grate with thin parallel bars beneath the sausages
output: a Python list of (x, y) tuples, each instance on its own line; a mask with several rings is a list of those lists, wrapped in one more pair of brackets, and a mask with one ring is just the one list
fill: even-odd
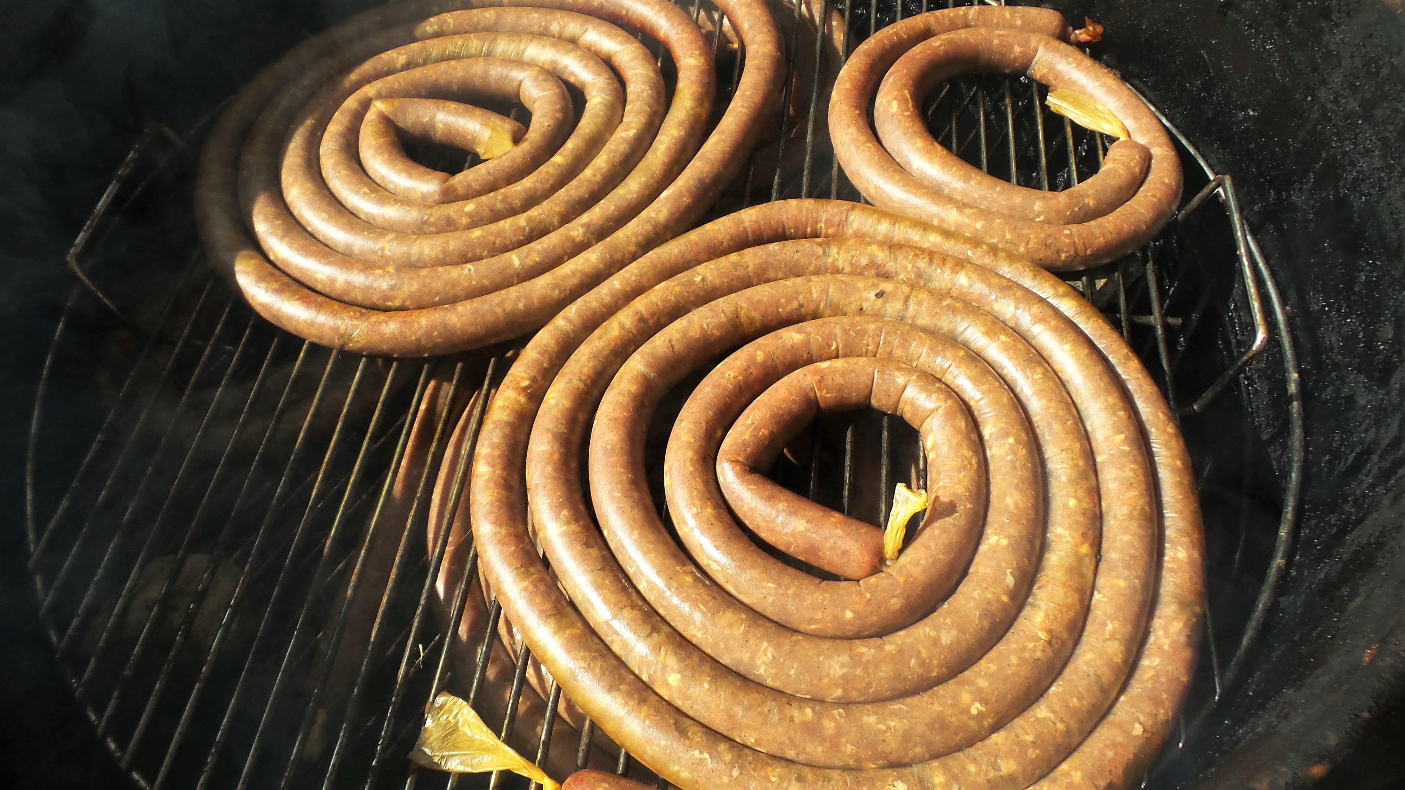
[[(683, 4), (694, 15), (715, 13), (695, 0)], [(821, 18), (830, 7), (825, 0)], [(849, 32), (847, 53), (929, 4), (833, 7)], [(798, 15), (790, 6), (778, 13)], [(792, 76), (797, 49), (792, 34)], [(818, 52), (816, 41), (809, 56)], [(778, 135), (783, 150), (805, 146), (804, 166), (777, 171), (769, 197), (857, 200), (816, 146), (818, 77), (791, 82), (787, 101), (797, 91), (809, 110), (801, 119), (783, 117)], [(736, 73), (719, 84), (725, 101)], [(929, 124), (939, 141), (995, 174), (1065, 188), (1096, 171), (1106, 141), (1050, 114), (1043, 98), (1044, 89), (1023, 79), (961, 79), (930, 103)], [(802, 139), (790, 136), (798, 122)], [(1291, 538), (1302, 461), (1297, 363), (1267, 264), (1229, 177), (1172, 132), (1187, 183), (1203, 190), (1149, 247), (1073, 281), (1121, 326), (1183, 413), (1201, 479), (1214, 571), (1207, 649), (1179, 746), (1152, 775), (1159, 784), (1175, 783), (1165, 766), (1187, 732), (1208, 725), (1262, 627)], [(472, 700), (489, 651), (475, 676), (454, 678), (447, 640), (426, 616), (444, 555), (444, 540), (424, 545), (416, 526), (431, 470), (417, 482), (409, 517), (386, 514), (410, 416), (431, 374), (447, 371), (455, 391), (486, 389), (510, 349), (389, 361), (275, 330), (211, 281), (200, 260), (187, 205), (191, 160), (185, 139), (164, 128), (133, 146), (69, 254), (79, 284), (35, 398), (31, 569), (79, 699), (143, 787), (524, 783), (426, 773), (405, 759), (427, 701), (450, 685)], [(745, 197), (724, 198), (717, 212), (767, 197), (764, 184), (753, 190), (753, 177), (749, 167)], [(1224, 211), (1210, 208), (1211, 194)], [(1286, 388), (1293, 403), (1293, 465), (1283, 478), (1266, 471), (1245, 406), (1239, 374), (1256, 357), (1255, 381)], [(1274, 358), (1281, 367), (1267, 364)], [(476, 437), (482, 401), (472, 419)], [(448, 440), (447, 423), (436, 426), (437, 447)], [(781, 464), (777, 479), (881, 523), (892, 481), (922, 474), (908, 430), (877, 413), (826, 417), (812, 432), (808, 461)], [(472, 439), (465, 454), (471, 447)], [(455, 502), (464, 488), (464, 479), (454, 482)], [(471, 558), (469, 575), (472, 568)], [(372, 614), (358, 620), (358, 611)], [(496, 634), (496, 602), (489, 616)], [(513, 700), (534, 693), (524, 692), (527, 655), (518, 655)], [(554, 737), (559, 694), (554, 686), (538, 759)], [(514, 717), (511, 704), (504, 734)], [(582, 765), (592, 730), (580, 741)], [(622, 753), (617, 768), (642, 772)]]

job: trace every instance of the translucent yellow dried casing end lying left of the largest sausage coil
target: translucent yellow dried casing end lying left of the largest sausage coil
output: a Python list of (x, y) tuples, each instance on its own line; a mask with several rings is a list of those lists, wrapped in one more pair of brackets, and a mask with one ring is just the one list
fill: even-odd
[(410, 760), (450, 773), (510, 770), (540, 782), (544, 790), (561, 789), (547, 772), (502, 742), (468, 703), (445, 692), (434, 697)]

